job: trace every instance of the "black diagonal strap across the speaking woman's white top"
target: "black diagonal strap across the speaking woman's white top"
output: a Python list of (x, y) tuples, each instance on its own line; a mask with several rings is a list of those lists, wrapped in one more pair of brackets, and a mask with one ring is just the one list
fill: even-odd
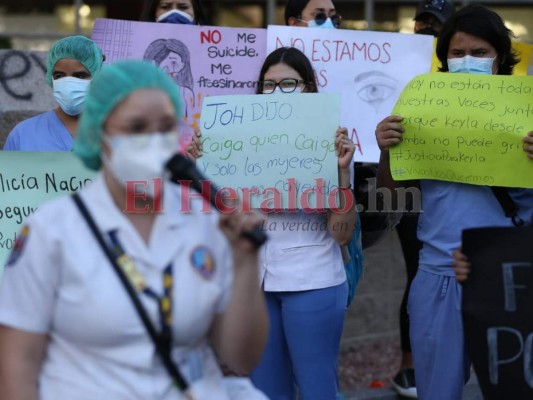
[[(150, 338), (152, 339), (152, 342), (154, 343), (155, 349), (157, 351), (157, 354), (161, 357), (161, 360), (163, 361), (163, 365), (165, 366), (167, 372), (174, 380), (174, 383), (176, 386), (185, 392), (184, 394), (186, 396), (190, 396), (186, 390), (188, 388), (187, 382), (183, 379), (181, 376), (178, 367), (170, 357), (170, 348), (168, 346), (164, 345), (161, 340), (159, 340), (159, 336), (154, 328), (154, 325), (152, 324), (152, 321), (150, 320), (150, 317), (146, 313), (146, 310), (144, 309), (143, 305), (141, 304), (141, 301), (139, 300), (139, 297), (135, 293), (135, 289), (131, 285), (128, 277), (124, 275), (122, 272), (122, 269), (118, 266), (117, 260), (115, 259), (114, 255), (111, 253), (111, 250), (107, 246), (104, 237), (102, 236), (102, 233), (96, 226), (96, 223), (89, 213), (89, 210), (83, 203), (81, 197), (78, 193), (74, 193), (72, 196), (74, 199), (74, 202), (78, 206), (78, 209), (80, 210), (81, 215), (85, 218), (85, 221), (87, 221), (87, 224), (89, 225), (89, 228), (91, 228), (92, 233), (94, 234), (94, 237), (98, 241), (98, 244), (102, 248), (104, 254), (107, 256), (107, 259), (113, 266), (113, 269), (117, 273), (120, 281), (122, 282), (122, 285), (126, 289), (126, 292), (128, 292), (128, 295), (131, 298), (131, 301), (133, 302), (133, 305), (135, 306), (135, 310), (137, 311), (137, 314), (139, 314), (139, 317), (141, 318), (146, 330), (148, 331), (148, 334), (150, 335)], [(188, 397), (189, 398), (189, 397)]]

